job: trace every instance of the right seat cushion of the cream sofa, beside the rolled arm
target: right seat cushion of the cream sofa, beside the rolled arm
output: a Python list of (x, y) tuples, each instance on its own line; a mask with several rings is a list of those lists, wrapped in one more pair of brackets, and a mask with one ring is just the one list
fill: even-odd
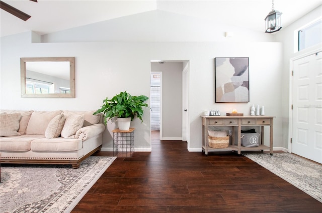
[(69, 138), (41, 138), (31, 141), (30, 148), (34, 152), (59, 152), (76, 151), (82, 149), (83, 141), (81, 139)]

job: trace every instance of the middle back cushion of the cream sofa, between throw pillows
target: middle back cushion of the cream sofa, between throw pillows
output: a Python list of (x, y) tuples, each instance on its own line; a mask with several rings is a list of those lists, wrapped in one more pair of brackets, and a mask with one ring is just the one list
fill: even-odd
[(56, 115), (59, 115), (61, 110), (57, 111), (34, 111), (28, 122), (26, 134), (28, 135), (45, 135), (46, 128)]

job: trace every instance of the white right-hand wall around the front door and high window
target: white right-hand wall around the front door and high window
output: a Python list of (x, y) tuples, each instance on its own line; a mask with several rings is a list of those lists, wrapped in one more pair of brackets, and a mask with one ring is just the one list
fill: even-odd
[[(307, 53), (311, 53), (314, 50), (318, 50), (322, 48), (322, 45), (316, 45), (314, 47), (302, 50), (300, 52), (295, 51), (297, 48), (297, 37), (295, 35), (296, 32), (300, 30), (303, 26), (307, 25), (308, 23), (317, 20), (318, 18), (322, 17), (322, 6), (314, 9), (312, 12), (308, 13), (307, 15), (303, 16), (301, 19), (297, 20), (296, 22), (292, 23), (286, 28), (282, 28), (279, 31), (275, 39), (277, 42), (281, 42), (283, 44), (283, 61), (282, 61), (282, 125), (283, 125), (283, 143), (281, 144), (283, 147), (288, 148), (290, 143), (289, 140), (289, 131), (291, 129), (288, 128), (289, 126), (289, 114), (291, 113), (290, 107), (290, 79), (291, 79), (291, 70), (290, 70), (290, 60), (295, 57), (300, 57), (301, 55), (305, 55)], [(295, 32), (295, 34), (294, 34)], [(322, 35), (320, 35), (322, 36)]]

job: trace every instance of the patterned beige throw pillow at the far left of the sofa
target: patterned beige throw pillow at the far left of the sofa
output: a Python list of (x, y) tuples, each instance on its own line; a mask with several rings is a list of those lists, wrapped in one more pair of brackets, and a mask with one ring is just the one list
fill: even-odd
[(0, 136), (18, 136), (21, 113), (0, 114)]

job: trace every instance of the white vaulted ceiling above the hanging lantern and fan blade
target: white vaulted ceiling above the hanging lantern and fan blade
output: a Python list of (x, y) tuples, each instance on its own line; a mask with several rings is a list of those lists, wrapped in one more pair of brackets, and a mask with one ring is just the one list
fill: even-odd
[[(213, 1), (58, 1), (21, 0), (3, 2), (31, 16), (19, 18), (1, 10), (1, 37), (35, 31), (39, 35), (58, 32), (92, 23), (112, 20), (147, 11), (215, 20), (221, 24), (264, 32), (264, 19), (272, 10), (271, 0)], [(282, 25), (287, 27), (322, 4), (321, 0), (275, 0), (274, 9), (283, 13)], [(322, 14), (321, 14), (322, 15)], [(157, 23), (155, 23), (157, 25)]]

